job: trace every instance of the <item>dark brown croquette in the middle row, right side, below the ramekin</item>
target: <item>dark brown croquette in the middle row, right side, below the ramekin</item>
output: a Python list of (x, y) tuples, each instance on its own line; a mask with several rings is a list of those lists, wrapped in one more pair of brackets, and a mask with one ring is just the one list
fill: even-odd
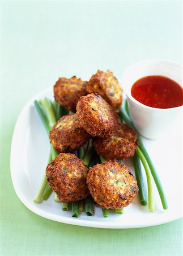
[(137, 145), (137, 134), (125, 123), (118, 123), (112, 137), (93, 138), (93, 146), (97, 154), (108, 160), (126, 160), (134, 156)]

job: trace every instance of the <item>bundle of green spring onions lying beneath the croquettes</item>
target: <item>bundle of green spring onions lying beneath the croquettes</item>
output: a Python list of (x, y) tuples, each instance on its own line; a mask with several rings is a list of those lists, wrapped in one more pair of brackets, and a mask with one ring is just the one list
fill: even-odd
[[(43, 100), (40, 100), (40, 101), (35, 101), (34, 103), (35, 103), (35, 108), (37, 110), (37, 113), (39, 113), (41, 121), (48, 135), (49, 135), (49, 131), (52, 130), (53, 125), (58, 121), (58, 119), (61, 118), (62, 115), (69, 113), (65, 108), (57, 104), (56, 101), (52, 102), (48, 98), (44, 98)], [(129, 125), (135, 130), (135, 127), (133, 126), (133, 123), (131, 122), (129, 117), (129, 109), (127, 107), (127, 103), (125, 104), (125, 108), (122, 108), (122, 107), (120, 108), (119, 117), (121, 122), (124, 120), (127, 125)], [(135, 131), (137, 132), (137, 130)], [(153, 193), (152, 193), (151, 174), (158, 188), (160, 199), (163, 204), (163, 208), (168, 209), (167, 201), (165, 199), (165, 195), (164, 195), (163, 188), (160, 183), (158, 174), (156, 173), (155, 167), (151, 162), (150, 156), (148, 155), (146, 148), (143, 146), (143, 143), (141, 141), (141, 138), (139, 138), (139, 136), (138, 136), (138, 141), (139, 141), (139, 146), (137, 146), (137, 152), (133, 157), (133, 162), (134, 162), (135, 176), (136, 176), (138, 187), (139, 187), (140, 203), (142, 205), (147, 204), (145, 193), (144, 193), (144, 183), (143, 183), (141, 163), (140, 163), (140, 160), (141, 160), (147, 176), (148, 209), (150, 210), (150, 212), (154, 212), (154, 199), (153, 199)], [(92, 139), (88, 142), (87, 147), (80, 147), (78, 150), (75, 150), (73, 153), (76, 156), (78, 156), (80, 159), (82, 159), (84, 164), (86, 164), (88, 167), (92, 167), (97, 163), (103, 163), (105, 161), (104, 158), (99, 157), (96, 154), (96, 152), (93, 150)], [(54, 150), (52, 144), (50, 144), (50, 154), (49, 154), (48, 163), (50, 163), (54, 158), (56, 158), (57, 155), (58, 153), (56, 152), (56, 150)], [(52, 189), (49, 187), (46, 181), (46, 174), (45, 174), (42, 179), (40, 189), (37, 192), (37, 195), (34, 199), (34, 202), (40, 203), (42, 199), (47, 200), (51, 195), (51, 193), (52, 193)], [(54, 194), (54, 200), (59, 202), (59, 199), (56, 194)], [(69, 210), (69, 204), (62, 203), (61, 208), (62, 210)], [(108, 217), (109, 210), (108, 209), (102, 209), (102, 210), (103, 210), (103, 216)], [(85, 211), (88, 216), (93, 215), (93, 199), (91, 196), (88, 196), (87, 199), (83, 201), (72, 203), (72, 217), (78, 217), (79, 212), (82, 212), (82, 211)], [(123, 209), (116, 209), (115, 212), (118, 214), (122, 214)]]

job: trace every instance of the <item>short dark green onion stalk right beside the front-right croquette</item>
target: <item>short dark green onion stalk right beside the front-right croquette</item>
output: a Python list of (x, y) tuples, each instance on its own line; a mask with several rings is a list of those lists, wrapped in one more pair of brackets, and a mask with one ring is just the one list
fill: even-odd
[(142, 205), (146, 205), (147, 201), (146, 201), (146, 196), (144, 194), (144, 183), (143, 183), (143, 176), (142, 176), (142, 170), (141, 170), (141, 163), (137, 153), (135, 153), (135, 155), (133, 156), (133, 163), (134, 163), (134, 169), (135, 169), (135, 177), (136, 177), (138, 188), (139, 188), (139, 193), (138, 193), (139, 201)]

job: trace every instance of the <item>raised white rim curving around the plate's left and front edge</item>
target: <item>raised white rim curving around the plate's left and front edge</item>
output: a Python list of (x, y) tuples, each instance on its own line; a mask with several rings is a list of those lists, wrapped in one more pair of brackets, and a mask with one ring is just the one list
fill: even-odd
[[(11, 181), (12, 181), (16, 195), (18, 196), (19, 200), (22, 201), (22, 203), (25, 205), (25, 207), (27, 207), (33, 213), (36, 213), (37, 215), (47, 218), (49, 220), (62, 222), (65, 224), (77, 225), (77, 226), (87, 226), (87, 227), (91, 227), (91, 228), (108, 228), (108, 229), (146, 228), (146, 227), (150, 227), (150, 226), (157, 226), (157, 225), (165, 224), (165, 223), (180, 219), (182, 217), (182, 214), (180, 214), (180, 216), (169, 218), (168, 220), (156, 221), (156, 223), (154, 223), (154, 224), (153, 223), (151, 223), (151, 224), (148, 224), (148, 223), (147, 224), (138, 224), (137, 223), (137, 224), (133, 224), (133, 226), (120, 224), (120, 222), (100, 222), (100, 221), (90, 221), (90, 219), (80, 220), (79, 218), (74, 218), (74, 217), (69, 218), (69, 217), (58, 216), (57, 214), (45, 212), (44, 210), (37, 208), (36, 203), (31, 204), (29, 202), (29, 200), (27, 200), (26, 197), (22, 195), (22, 193), (19, 190), (18, 184), (16, 184), (16, 182), (15, 182), (16, 179), (14, 178), (15, 172), (14, 172), (14, 166), (13, 166), (13, 162), (14, 162), (13, 152), (14, 152), (14, 148), (15, 148), (15, 138), (16, 138), (16, 133), (17, 133), (17, 127), (19, 125), (19, 121), (22, 118), (23, 113), (26, 112), (26, 110), (29, 108), (29, 106), (33, 104), (33, 101), (36, 100), (37, 98), (39, 98), (39, 96), (42, 96), (42, 94), (49, 93), (52, 89), (53, 89), (52, 86), (50, 86), (49, 88), (46, 88), (39, 93), (36, 93), (33, 97), (31, 97), (30, 100), (28, 100), (28, 102), (23, 106), (23, 109), (19, 113), (18, 119), (16, 120), (16, 123), (15, 123), (14, 131), (12, 134), (11, 151), (10, 151)], [(88, 216), (88, 218), (90, 218), (90, 216)]]

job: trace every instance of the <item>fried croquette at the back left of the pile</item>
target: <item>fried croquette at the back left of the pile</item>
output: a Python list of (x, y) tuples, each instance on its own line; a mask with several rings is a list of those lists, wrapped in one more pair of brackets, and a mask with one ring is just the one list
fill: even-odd
[(61, 77), (54, 85), (54, 98), (59, 105), (65, 106), (68, 110), (75, 110), (80, 96), (87, 94), (86, 84), (87, 81), (82, 81), (76, 76), (71, 79)]

